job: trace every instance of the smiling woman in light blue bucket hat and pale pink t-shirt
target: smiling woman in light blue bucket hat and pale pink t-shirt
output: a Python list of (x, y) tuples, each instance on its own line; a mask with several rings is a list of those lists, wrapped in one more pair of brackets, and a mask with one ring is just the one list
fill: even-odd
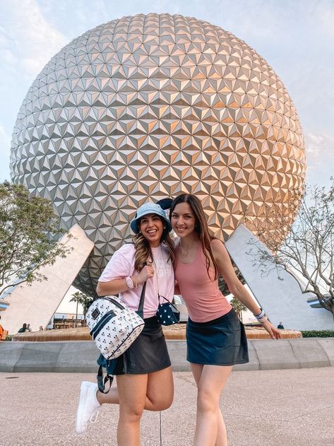
[(128, 350), (108, 364), (108, 373), (117, 377), (117, 388), (103, 394), (95, 383), (82, 383), (76, 422), (77, 432), (83, 433), (101, 404), (119, 404), (119, 446), (139, 446), (143, 410), (167, 409), (174, 394), (165, 336), (156, 317), (158, 295), (169, 301), (174, 297), (172, 226), (159, 204), (143, 204), (131, 221), (131, 229), (136, 234), (133, 244), (125, 244), (114, 253), (100, 276), (97, 294), (119, 294), (126, 305), (138, 310), (146, 282), (145, 327)]

